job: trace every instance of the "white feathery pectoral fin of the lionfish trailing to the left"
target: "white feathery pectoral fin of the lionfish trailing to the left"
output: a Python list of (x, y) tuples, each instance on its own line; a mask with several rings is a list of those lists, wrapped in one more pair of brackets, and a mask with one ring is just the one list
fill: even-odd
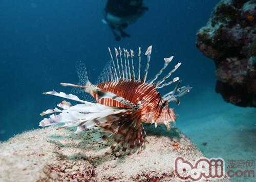
[[(72, 100), (77, 101), (76, 96), (66, 95), (65, 93), (49, 93), (55, 96), (69, 96)], [(67, 109), (59, 110), (48, 109), (47, 111), (42, 112), (41, 116), (61, 112), (59, 115), (50, 115), (49, 118), (43, 119), (39, 126), (49, 126), (53, 124), (63, 123), (65, 125), (61, 127), (72, 127), (78, 126), (77, 132), (82, 131), (84, 129), (93, 127), (97, 124), (106, 122), (109, 115), (115, 115), (116, 113), (126, 112), (129, 109), (123, 109), (119, 107), (110, 107), (97, 103), (85, 103), (85, 104), (77, 104), (71, 107), (66, 107)]]

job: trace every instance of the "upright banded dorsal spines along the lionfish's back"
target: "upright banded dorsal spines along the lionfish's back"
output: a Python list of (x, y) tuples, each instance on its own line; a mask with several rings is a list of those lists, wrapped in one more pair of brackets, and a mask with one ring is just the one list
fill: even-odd
[[(141, 82), (146, 82), (147, 75), (148, 75), (148, 69), (150, 66), (150, 61), (151, 61), (151, 54), (152, 54), (152, 45), (150, 45), (146, 52), (145, 55), (147, 56), (147, 62), (145, 66), (145, 71), (144, 75), (141, 77), (141, 47), (139, 47), (139, 52), (138, 52), (138, 72), (137, 72), (137, 77), (135, 76), (135, 67), (134, 67), (134, 51), (130, 50), (130, 53), (124, 49), (118, 47), (118, 49), (115, 49), (115, 55), (116, 55), (116, 63), (114, 62), (114, 58), (111, 52), (111, 49), (109, 49), (110, 57), (111, 57), (111, 62), (110, 64), (107, 64), (108, 67), (106, 69), (105, 74), (103, 75), (103, 79), (101, 79), (101, 82), (107, 82), (107, 81), (114, 81), (118, 82), (120, 80), (123, 81), (141, 81)], [(131, 57), (131, 58), (130, 58)], [(119, 63), (119, 58), (120, 58), (120, 63)], [(177, 65), (175, 65), (174, 69), (170, 71), (167, 75), (164, 76), (161, 80), (157, 81), (159, 76), (163, 73), (163, 71), (166, 69), (167, 65), (172, 61), (174, 57), (171, 56), (169, 58), (164, 58), (164, 65), (162, 69), (155, 75), (155, 77), (151, 80), (148, 80), (146, 83), (155, 85), (157, 88), (162, 88), (164, 86), (167, 86), (169, 84), (172, 84), (173, 82), (177, 81), (177, 78), (174, 78), (174, 80), (169, 81), (167, 83), (163, 83), (165, 80), (167, 80), (181, 65), (179, 62)], [(98, 83), (99, 84), (99, 83)]]

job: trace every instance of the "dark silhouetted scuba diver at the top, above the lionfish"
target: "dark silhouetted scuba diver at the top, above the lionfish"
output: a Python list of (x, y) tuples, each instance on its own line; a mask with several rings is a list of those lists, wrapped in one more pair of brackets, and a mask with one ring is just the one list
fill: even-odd
[(102, 21), (110, 26), (115, 39), (120, 40), (121, 37), (131, 36), (123, 29), (135, 22), (147, 10), (148, 8), (143, 6), (143, 0), (108, 0)]

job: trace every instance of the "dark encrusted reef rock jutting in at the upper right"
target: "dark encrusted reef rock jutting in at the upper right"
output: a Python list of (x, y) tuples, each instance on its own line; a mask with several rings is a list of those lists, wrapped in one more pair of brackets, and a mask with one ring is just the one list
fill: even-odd
[(197, 47), (216, 64), (216, 92), (238, 106), (256, 107), (256, 1), (222, 0)]

